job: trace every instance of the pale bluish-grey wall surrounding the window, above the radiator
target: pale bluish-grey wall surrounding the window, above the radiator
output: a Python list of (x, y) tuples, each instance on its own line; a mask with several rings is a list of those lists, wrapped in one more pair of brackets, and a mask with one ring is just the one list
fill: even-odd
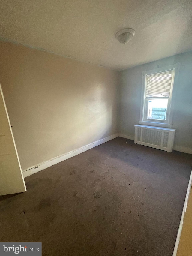
[(192, 51), (150, 62), (121, 72), (119, 132), (134, 136), (134, 125), (139, 124), (142, 71), (161, 68), (180, 62), (179, 80), (174, 85), (173, 128), (175, 145), (192, 149)]

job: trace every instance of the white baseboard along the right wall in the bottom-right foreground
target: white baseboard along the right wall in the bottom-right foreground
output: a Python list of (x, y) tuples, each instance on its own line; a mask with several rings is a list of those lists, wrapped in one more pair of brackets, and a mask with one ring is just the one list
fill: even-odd
[(185, 212), (187, 210), (187, 204), (188, 204), (188, 201), (189, 201), (191, 185), (192, 185), (192, 171), (191, 171), (191, 175), (190, 175), (190, 179), (189, 179), (187, 194), (186, 194), (186, 197), (185, 197), (185, 202), (184, 202), (184, 206), (183, 206), (183, 212), (182, 212), (181, 221), (180, 221), (180, 224), (179, 224), (179, 230), (178, 230), (178, 233), (177, 233), (175, 247), (174, 247), (174, 250), (173, 250), (173, 256), (176, 256), (177, 250), (178, 250), (178, 247), (179, 247), (179, 241), (180, 241), (180, 238), (181, 238), (181, 233), (182, 233), (182, 228), (183, 228), (183, 220), (184, 220)]

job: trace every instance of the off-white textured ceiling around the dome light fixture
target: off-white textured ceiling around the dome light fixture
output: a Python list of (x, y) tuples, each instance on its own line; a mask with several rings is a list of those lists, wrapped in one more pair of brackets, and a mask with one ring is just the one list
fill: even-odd
[[(192, 50), (191, 0), (1, 0), (0, 39), (116, 70)], [(120, 44), (115, 34), (131, 27)]]

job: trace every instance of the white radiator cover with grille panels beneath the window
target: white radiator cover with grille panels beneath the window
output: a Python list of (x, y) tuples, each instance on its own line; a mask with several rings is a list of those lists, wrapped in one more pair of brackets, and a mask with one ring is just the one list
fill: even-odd
[(176, 129), (135, 125), (135, 144), (172, 152), (175, 131)]

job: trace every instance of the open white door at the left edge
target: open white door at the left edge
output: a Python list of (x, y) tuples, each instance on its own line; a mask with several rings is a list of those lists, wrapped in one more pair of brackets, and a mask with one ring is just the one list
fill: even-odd
[(24, 191), (26, 185), (0, 85), (0, 195)]

